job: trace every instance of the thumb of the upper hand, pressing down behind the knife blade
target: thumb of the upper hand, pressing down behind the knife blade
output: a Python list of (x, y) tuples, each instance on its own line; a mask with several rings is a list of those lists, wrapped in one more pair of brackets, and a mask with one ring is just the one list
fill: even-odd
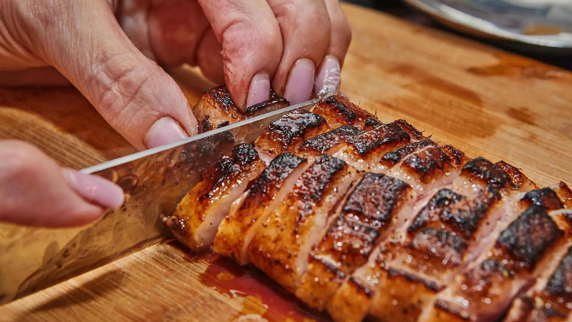
[(15, 2), (19, 21), (30, 30), (25, 38), (31, 51), (69, 79), (133, 146), (143, 150), (196, 134), (181, 89), (133, 45), (108, 1)]

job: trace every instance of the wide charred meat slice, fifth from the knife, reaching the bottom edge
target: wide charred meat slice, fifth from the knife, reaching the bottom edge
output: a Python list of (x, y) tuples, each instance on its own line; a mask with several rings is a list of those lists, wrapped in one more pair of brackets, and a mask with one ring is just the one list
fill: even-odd
[[(510, 176), (483, 158), (467, 162), (450, 187), (423, 206), (406, 230), (372, 253), (328, 304), (336, 321), (360, 321), (368, 312), (383, 321), (415, 321), (506, 211), (499, 190)], [(506, 193), (509, 195), (509, 193)], [(483, 248), (480, 246), (480, 248)]]

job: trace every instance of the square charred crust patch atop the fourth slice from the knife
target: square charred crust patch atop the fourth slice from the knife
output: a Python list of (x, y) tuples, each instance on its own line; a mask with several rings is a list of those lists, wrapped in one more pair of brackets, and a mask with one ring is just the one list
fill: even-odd
[(369, 225), (380, 226), (391, 220), (391, 214), (408, 189), (409, 184), (401, 180), (367, 172), (349, 195), (343, 213), (366, 217)]

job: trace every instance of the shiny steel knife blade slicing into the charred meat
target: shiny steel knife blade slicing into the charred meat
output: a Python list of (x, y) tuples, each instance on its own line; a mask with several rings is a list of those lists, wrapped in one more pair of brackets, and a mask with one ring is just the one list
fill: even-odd
[(296, 108), (277, 109), (179, 142), (81, 170), (124, 190), (121, 209), (67, 229), (0, 223), (0, 305), (88, 272), (169, 237), (162, 218), (200, 181), (208, 166), (240, 143), (253, 143), (268, 125)]

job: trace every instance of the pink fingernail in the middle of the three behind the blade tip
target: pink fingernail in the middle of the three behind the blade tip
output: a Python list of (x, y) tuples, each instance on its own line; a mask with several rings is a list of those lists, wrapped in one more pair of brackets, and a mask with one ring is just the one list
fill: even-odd
[(291, 105), (310, 99), (315, 73), (316, 66), (309, 58), (301, 58), (296, 61), (284, 89), (284, 98), (289, 100)]

